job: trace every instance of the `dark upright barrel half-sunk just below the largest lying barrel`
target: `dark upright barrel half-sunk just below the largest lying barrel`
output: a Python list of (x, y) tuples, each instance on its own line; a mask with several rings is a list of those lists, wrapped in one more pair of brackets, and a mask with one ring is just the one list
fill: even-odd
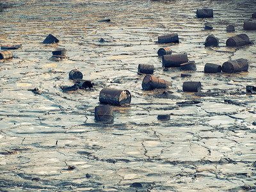
[(113, 107), (96, 106), (94, 110), (95, 122), (113, 122)]

